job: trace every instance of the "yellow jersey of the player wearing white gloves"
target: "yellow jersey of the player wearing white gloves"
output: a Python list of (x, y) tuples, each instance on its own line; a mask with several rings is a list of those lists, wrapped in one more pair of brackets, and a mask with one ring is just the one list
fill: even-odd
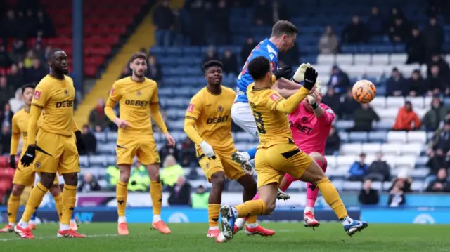
[(198, 154), (202, 140), (219, 152), (232, 152), (235, 149), (231, 135), (231, 105), (235, 97), (233, 89), (222, 86), (221, 93), (217, 95), (205, 87), (191, 98), (185, 121), (195, 121), (195, 129), (200, 138), (195, 139), (189, 132), (186, 134), (195, 142)]

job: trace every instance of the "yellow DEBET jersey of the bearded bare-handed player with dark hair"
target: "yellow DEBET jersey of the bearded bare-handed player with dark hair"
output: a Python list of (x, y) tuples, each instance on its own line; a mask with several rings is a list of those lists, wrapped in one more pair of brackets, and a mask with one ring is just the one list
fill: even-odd
[(150, 114), (152, 107), (158, 107), (158, 84), (145, 78), (137, 82), (131, 77), (119, 79), (113, 84), (108, 98), (119, 102), (120, 119), (127, 121), (127, 128), (119, 128), (119, 138), (153, 138)]

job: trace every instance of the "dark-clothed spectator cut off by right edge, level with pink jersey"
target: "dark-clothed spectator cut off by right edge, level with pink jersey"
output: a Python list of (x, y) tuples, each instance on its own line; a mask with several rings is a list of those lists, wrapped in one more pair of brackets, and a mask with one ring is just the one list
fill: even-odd
[(435, 175), (440, 168), (448, 168), (450, 163), (450, 119), (446, 119), (442, 131), (437, 131), (428, 149), (430, 175)]

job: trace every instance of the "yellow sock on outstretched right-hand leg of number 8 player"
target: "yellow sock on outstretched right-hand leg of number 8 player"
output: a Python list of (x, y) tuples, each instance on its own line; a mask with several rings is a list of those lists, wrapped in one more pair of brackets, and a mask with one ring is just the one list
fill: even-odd
[(321, 191), (323, 199), (325, 199), (326, 203), (333, 208), (333, 211), (339, 219), (348, 216), (347, 209), (345, 209), (344, 203), (342, 203), (342, 199), (340, 199), (338, 190), (336, 190), (335, 186), (328, 178), (320, 180), (316, 186), (319, 188), (319, 191)]

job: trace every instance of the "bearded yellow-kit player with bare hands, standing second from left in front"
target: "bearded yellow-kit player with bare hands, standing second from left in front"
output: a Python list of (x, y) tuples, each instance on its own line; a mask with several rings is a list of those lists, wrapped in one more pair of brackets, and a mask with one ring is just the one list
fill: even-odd
[[(137, 156), (139, 162), (147, 168), (150, 175), (150, 196), (153, 203), (153, 228), (163, 234), (170, 230), (161, 220), (162, 185), (160, 181), (160, 156), (153, 137), (152, 122), (165, 134), (167, 144), (175, 145), (175, 140), (167, 131), (158, 105), (158, 84), (145, 77), (147, 55), (135, 53), (129, 61), (131, 77), (115, 81), (111, 88), (105, 114), (119, 127), (117, 137), (117, 166), (120, 169), (120, 180), (117, 183), (117, 213), (119, 215), (117, 231), (120, 235), (128, 235), (125, 208), (127, 206), (127, 185), (133, 164)], [(116, 102), (120, 102), (120, 117), (114, 113)], [(151, 119), (150, 119), (151, 116)]]

